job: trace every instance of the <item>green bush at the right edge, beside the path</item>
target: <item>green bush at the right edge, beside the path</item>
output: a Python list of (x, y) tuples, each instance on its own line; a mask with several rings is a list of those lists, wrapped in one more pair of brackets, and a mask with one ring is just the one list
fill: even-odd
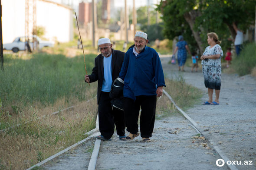
[(246, 44), (240, 56), (234, 58), (230, 66), (235, 69), (239, 76), (250, 74), (256, 66), (256, 44)]

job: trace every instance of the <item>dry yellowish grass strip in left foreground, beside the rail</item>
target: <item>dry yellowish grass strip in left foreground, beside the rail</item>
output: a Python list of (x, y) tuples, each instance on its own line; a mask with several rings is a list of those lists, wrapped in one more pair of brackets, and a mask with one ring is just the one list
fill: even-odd
[(97, 98), (51, 115), (59, 106), (66, 106), (65, 100), (58, 100), (52, 107), (30, 107), (16, 116), (13, 126), (0, 133), (0, 169), (29, 168), (85, 139), (84, 133), (95, 127)]

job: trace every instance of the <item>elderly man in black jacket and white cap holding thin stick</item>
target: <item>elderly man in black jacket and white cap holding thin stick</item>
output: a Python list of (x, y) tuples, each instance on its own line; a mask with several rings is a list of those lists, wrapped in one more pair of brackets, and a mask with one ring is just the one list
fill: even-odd
[(98, 124), (101, 135), (97, 139), (109, 140), (116, 126), (119, 139), (125, 139), (125, 115), (122, 110), (111, 105), (109, 92), (113, 80), (115, 80), (121, 70), (125, 53), (113, 50), (109, 38), (98, 40), (98, 47), (101, 52), (95, 58), (95, 66), (91, 75), (85, 75), (85, 82), (95, 82), (98, 80)]

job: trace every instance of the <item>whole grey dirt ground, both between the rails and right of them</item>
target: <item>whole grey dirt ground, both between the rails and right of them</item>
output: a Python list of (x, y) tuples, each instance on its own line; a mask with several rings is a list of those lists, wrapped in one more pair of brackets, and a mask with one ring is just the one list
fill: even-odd
[[(170, 58), (161, 58), (165, 77), (183, 76), (187, 83), (204, 91), (201, 103), (207, 100), (207, 89), (203, 85), (201, 71), (197, 73), (178, 72), (177, 65), (167, 64)], [(187, 68), (188, 70), (188, 68)], [(161, 100), (163, 100), (162, 98)], [(253, 165), (237, 165), (237, 169), (256, 169), (256, 80), (250, 76), (222, 76), (219, 106), (203, 106), (201, 103), (190, 108), (186, 113), (199, 124), (207, 138), (213, 141), (230, 161), (253, 161)], [(166, 98), (164, 100), (167, 100)], [(116, 133), (112, 141), (101, 143), (96, 169), (125, 170), (217, 170), (217, 154), (203, 138), (193, 138), (197, 131), (181, 114), (162, 117), (155, 121), (151, 142), (141, 142), (141, 137), (133, 141), (120, 141)], [(128, 134), (128, 133), (127, 133)], [(91, 142), (92, 144), (92, 142)], [(85, 147), (82, 149), (82, 147)], [(80, 164), (88, 167), (89, 145), (80, 146), (69, 155), (62, 156), (62, 162), (69, 165)], [(81, 151), (83, 160), (80, 160)], [(77, 158), (75, 158), (77, 157)], [(64, 159), (65, 158), (65, 159)], [(54, 161), (53, 161), (54, 162)], [(46, 169), (66, 169), (66, 164), (58, 162), (47, 165)], [(238, 162), (239, 163), (239, 162)], [(55, 167), (55, 168), (51, 168)], [(74, 169), (74, 168), (71, 168)], [(77, 169), (77, 168), (75, 168)], [(225, 164), (221, 169), (228, 169)]]

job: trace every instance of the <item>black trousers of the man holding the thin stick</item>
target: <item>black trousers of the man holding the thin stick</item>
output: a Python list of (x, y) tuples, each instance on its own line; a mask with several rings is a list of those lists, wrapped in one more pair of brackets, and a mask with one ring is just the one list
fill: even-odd
[(112, 109), (109, 92), (101, 92), (98, 104), (98, 126), (101, 135), (110, 139), (115, 126), (118, 135), (125, 135), (125, 113), (115, 107)]

